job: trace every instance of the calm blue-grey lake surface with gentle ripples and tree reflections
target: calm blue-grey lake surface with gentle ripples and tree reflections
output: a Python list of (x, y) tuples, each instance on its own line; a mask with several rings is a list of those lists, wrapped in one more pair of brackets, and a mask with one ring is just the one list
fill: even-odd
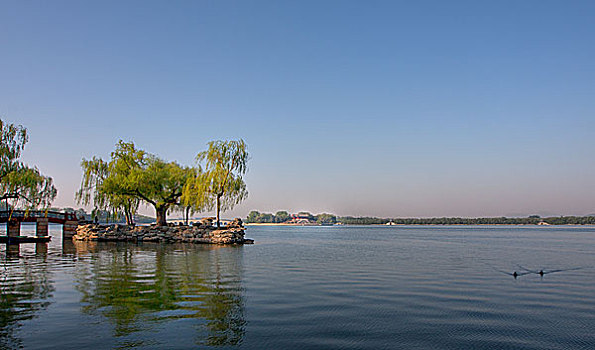
[(1, 349), (595, 348), (594, 227), (251, 226), (243, 247), (51, 231), (0, 248)]

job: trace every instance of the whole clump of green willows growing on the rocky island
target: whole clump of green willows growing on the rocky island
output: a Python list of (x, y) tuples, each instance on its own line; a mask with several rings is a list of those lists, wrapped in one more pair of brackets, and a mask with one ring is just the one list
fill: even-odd
[[(243, 153), (242, 153), (243, 152)], [(204, 156), (203, 156), (204, 154)], [(132, 142), (119, 141), (109, 161), (94, 157), (83, 159), (83, 179), (76, 199), (84, 205), (122, 214), (127, 224), (141, 203), (155, 208), (157, 225), (167, 225), (168, 211), (190, 212), (233, 207), (246, 198), (241, 174), (246, 171), (246, 147), (240, 141), (213, 141), (209, 150), (199, 153), (200, 164), (185, 167), (166, 162), (137, 149)]]

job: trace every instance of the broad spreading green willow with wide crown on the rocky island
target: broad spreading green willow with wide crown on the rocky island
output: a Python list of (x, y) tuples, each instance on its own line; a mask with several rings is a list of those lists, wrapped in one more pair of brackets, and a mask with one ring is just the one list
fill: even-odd
[(83, 160), (81, 166), (83, 181), (77, 198), (109, 203), (112, 208), (130, 204), (134, 211), (144, 202), (155, 208), (160, 226), (167, 225), (168, 210), (180, 204), (184, 184), (192, 177), (190, 168), (161, 160), (121, 140), (109, 162), (94, 158), (92, 162)]

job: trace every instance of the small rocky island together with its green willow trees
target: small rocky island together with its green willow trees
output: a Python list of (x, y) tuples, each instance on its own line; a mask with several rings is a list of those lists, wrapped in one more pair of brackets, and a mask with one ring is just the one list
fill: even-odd
[[(123, 214), (126, 225), (79, 225), (74, 240), (129, 242), (188, 242), (202, 244), (253, 243), (245, 239), (240, 218), (222, 227), (220, 212), (244, 200), (248, 191), (242, 175), (248, 152), (243, 140), (212, 141), (196, 156), (196, 166), (167, 162), (120, 141), (111, 159), (83, 159), (83, 180), (76, 194), (79, 203)], [(156, 223), (136, 226), (141, 203), (155, 208)], [(189, 225), (191, 213), (215, 209), (216, 217)], [(167, 213), (184, 214), (179, 225), (167, 222)], [(216, 225), (213, 225), (216, 224)]]

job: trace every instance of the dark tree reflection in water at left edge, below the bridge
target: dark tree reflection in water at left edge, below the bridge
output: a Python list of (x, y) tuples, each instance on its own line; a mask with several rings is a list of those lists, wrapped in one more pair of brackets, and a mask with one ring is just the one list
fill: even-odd
[(19, 349), (23, 342), (15, 333), (48, 307), (54, 286), (45, 256), (21, 257), (16, 245), (0, 258), (0, 349)]

